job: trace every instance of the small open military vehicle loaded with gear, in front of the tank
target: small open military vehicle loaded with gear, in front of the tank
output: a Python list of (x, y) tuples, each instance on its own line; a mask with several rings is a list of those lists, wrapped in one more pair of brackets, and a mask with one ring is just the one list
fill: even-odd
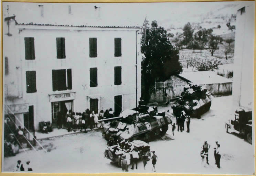
[(124, 145), (120, 145), (108, 146), (104, 152), (105, 157), (110, 159), (113, 163), (116, 163), (118, 166), (121, 166), (121, 157), (123, 155), (126, 155), (127, 153), (133, 155), (134, 151), (138, 152), (138, 159), (141, 159), (143, 154), (146, 154), (148, 158), (147, 160), (151, 157), (150, 146), (144, 141), (135, 140), (129, 143), (126, 141), (124, 142)]

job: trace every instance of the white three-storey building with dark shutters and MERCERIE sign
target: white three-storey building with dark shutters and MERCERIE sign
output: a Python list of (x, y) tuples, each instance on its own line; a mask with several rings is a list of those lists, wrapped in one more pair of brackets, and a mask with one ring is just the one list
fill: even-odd
[(58, 111), (138, 104), (143, 19), (108, 21), (106, 9), (80, 6), (3, 2), (4, 114), (30, 130), (54, 124)]

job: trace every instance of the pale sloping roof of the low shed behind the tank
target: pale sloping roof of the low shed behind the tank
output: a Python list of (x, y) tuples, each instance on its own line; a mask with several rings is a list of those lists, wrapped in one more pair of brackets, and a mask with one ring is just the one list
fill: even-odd
[(202, 71), (202, 72), (182, 72), (179, 77), (185, 79), (186, 81), (191, 81), (194, 84), (221, 84), (221, 83), (232, 83), (231, 79), (225, 78), (223, 76), (217, 75), (212, 71)]

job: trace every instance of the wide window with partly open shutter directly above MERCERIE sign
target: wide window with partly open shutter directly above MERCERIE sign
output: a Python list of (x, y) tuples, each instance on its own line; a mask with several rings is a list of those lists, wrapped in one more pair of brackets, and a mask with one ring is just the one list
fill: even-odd
[(72, 89), (71, 69), (52, 70), (52, 89), (53, 91)]

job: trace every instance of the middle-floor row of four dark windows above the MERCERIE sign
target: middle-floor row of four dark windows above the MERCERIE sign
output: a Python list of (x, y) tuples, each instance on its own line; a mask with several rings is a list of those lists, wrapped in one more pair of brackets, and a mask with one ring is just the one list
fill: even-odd
[[(122, 68), (114, 67), (115, 78), (114, 85), (122, 84)], [(90, 68), (90, 87), (98, 86), (98, 68)], [(58, 69), (52, 70), (52, 89), (56, 90), (72, 90), (72, 70)], [(26, 71), (26, 92), (36, 92), (36, 71)]]

